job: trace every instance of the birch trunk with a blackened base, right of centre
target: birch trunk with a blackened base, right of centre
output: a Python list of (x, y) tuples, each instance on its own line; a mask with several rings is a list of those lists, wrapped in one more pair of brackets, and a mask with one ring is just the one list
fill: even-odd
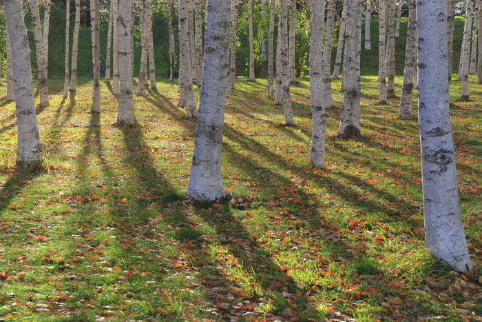
[(347, 0), (346, 48), (344, 58), (343, 110), (338, 134), (352, 138), (360, 135), (360, 54), (362, 50), (363, 1)]

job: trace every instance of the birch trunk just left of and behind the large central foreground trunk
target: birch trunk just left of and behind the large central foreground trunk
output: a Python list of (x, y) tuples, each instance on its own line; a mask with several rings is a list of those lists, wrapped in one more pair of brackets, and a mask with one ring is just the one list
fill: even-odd
[[(211, 0), (214, 1), (214, 0)], [(198, 116), (191, 75), (191, 50), (189, 49), (188, 0), (178, 0), (179, 10), (179, 106), (186, 107), (189, 119)], [(181, 72), (182, 70), (182, 72)]]

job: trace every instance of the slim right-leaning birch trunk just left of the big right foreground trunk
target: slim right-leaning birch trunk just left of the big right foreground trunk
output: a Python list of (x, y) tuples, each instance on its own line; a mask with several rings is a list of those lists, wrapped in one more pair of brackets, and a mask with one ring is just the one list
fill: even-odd
[(408, 30), (405, 51), (404, 85), (401, 87), (400, 119), (412, 119), (412, 92), (417, 63), (417, 0), (408, 0)]

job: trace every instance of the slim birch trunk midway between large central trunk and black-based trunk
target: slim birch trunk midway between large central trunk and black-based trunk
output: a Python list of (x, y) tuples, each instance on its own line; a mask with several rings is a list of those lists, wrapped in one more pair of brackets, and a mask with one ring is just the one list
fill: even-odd
[(281, 80), (283, 89), (284, 123), (294, 125), (293, 111), (291, 110), (291, 91), (289, 78), (289, 53), (288, 53), (288, 1), (280, 0), (280, 33), (281, 33)]

